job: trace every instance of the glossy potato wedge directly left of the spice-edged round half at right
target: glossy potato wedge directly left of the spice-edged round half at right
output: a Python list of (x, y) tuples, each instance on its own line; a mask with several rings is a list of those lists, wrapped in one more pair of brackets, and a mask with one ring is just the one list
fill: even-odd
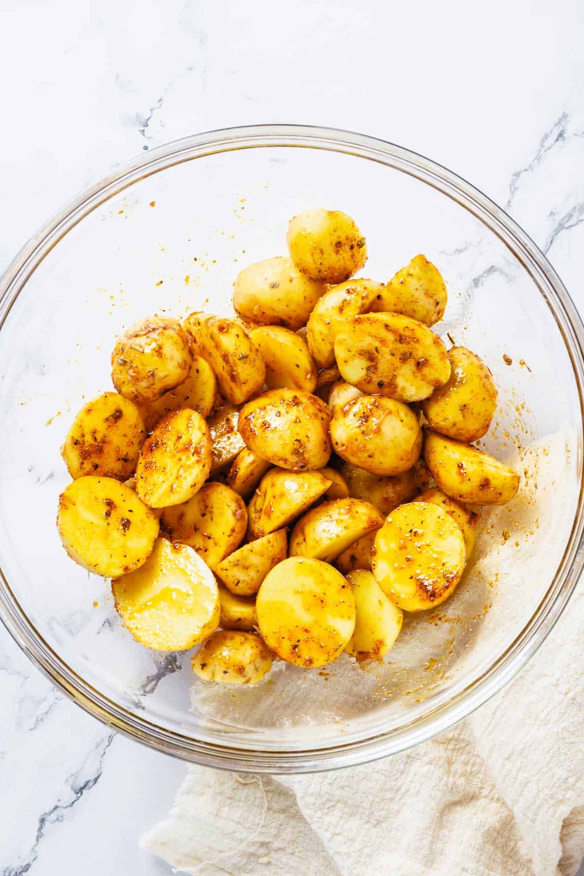
[(290, 535), (290, 555), (333, 562), (363, 535), (383, 526), (383, 516), (360, 498), (323, 502), (301, 517)]

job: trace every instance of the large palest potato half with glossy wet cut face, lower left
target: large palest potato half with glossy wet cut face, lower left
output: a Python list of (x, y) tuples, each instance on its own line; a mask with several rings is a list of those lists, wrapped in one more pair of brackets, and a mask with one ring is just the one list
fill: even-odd
[(134, 639), (156, 651), (186, 651), (219, 623), (219, 590), (193, 548), (158, 539), (148, 560), (115, 578), (116, 610)]

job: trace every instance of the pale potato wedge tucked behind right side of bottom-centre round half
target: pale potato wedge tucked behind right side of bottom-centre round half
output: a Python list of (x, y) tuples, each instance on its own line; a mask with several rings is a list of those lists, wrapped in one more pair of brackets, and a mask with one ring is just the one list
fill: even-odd
[(357, 619), (345, 651), (359, 662), (380, 661), (398, 638), (404, 612), (385, 596), (370, 572), (358, 569), (347, 580), (353, 585)]

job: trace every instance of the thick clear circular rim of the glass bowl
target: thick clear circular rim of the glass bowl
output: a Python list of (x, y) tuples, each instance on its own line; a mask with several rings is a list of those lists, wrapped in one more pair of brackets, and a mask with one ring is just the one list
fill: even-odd
[[(299, 147), (342, 152), (376, 161), (438, 189), (475, 215), (524, 266), (544, 297), (566, 343), (584, 412), (584, 326), (558, 274), (525, 234), (496, 203), (460, 176), (424, 156), (381, 139), (351, 131), (297, 124), (262, 124), (207, 131), (175, 140), (137, 156), (104, 177), (53, 216), (18, 253), (0, 278), (0, 331), (11, 309), (47, 253), (69, 230), (104, 201), (138, 180), (202, 156), (242, 149)], [(582, 477), (582, 449), (578, 469)], [(165, 730), (113, 703), (62, 661), (30, 623), (0, 569), (0, 619), (32, 662), (74, 703), (112, 729), (166, 754), (208, 767), (246, 773), (312, 773), (349, 767), (405, 751), (447, 730), (496, 694), (531, 659), (552, 630), (573, 593), (584, 565), (584, 484), (572, 532), (559, 567), (531, 620), (517, 638), (474, 682), (460, 682), (454, 693), (437, 697), (433, 710), (401, 727), (373, 737), (351, 738), (309, 750), (232, 748), (209, 738), (191, 738)]]

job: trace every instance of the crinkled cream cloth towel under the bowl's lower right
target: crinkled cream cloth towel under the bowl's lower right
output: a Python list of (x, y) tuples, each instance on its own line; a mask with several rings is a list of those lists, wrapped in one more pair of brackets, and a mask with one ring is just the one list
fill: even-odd
[(517, 679), (453, 730), (334, 773), (190, 767), (144, 849), (187, 873), (552, 876), (584, 858), (584, 584)]

